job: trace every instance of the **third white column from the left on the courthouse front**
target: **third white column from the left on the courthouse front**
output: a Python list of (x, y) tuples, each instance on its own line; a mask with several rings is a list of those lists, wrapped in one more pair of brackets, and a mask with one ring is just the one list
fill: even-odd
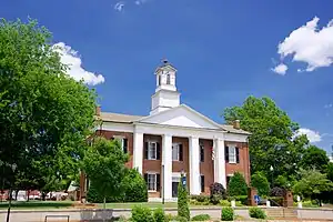
[(200, 186), (200, 147), (199, 138), (189, 138), (190, 151), (190, 194), (199, 195)]

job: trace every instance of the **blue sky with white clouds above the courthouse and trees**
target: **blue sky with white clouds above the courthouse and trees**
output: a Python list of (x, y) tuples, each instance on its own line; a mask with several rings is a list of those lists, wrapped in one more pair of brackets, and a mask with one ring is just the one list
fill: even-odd
[(3, 1), (0, 14), (46, 26), (103, 111), (148, 114), (153, 70), (168, 58), (183, 103), (223, 122), (225, 107), (268, 95), (331, 150), (332, 8), (330, 0), (33, 0)]

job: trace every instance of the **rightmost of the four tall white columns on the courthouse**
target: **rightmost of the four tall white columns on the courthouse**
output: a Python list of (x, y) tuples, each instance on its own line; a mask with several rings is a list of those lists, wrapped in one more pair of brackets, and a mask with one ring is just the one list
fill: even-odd
[(226, 188), (224, 140), (214, 139), (214, 182)]

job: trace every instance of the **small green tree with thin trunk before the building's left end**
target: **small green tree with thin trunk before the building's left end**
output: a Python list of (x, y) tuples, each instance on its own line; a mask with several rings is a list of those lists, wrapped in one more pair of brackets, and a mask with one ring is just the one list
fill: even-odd
[(82, 167), (98, 194), (103, 196), (104, 209), (107, 196), (121, 194), (121, 184), (127, 171), (124, 164), (128, 159), (119, 141), (109, 141), (104, 138), (95, 138), (85, 152)]

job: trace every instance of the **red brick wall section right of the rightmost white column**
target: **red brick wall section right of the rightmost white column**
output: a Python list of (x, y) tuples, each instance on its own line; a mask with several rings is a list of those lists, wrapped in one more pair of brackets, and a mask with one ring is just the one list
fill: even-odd
[(244, 175), (246, 183), (250, 183), (250, 158), (248, 143), (225, 141), (225, 147), (229, 144), (236, 144), (240, 149), (240, 163), (225, 163), (225, 174), (233, 174), (240, 172)]

